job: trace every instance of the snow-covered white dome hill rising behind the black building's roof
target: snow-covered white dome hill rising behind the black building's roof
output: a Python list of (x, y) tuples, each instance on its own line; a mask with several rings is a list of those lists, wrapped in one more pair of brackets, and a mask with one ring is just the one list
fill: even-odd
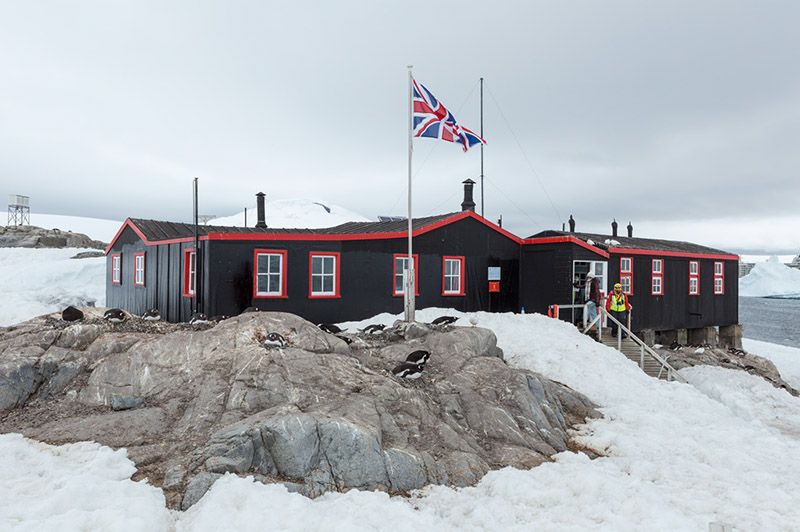
[[(265, 202), (267, 227), (308, 228), (334, 227), (346, 222), (369, 222), (360, 214), (338, 205), (314, 199), (282, 199)], [(330, 212), (328, 212), (330, 211)], [(258, 213), (255, 207), (247, 209), (247, 227), (255, 227)], [(233, 216), (214, 218), (209, 225), (244, 227), (244, 211)]]

